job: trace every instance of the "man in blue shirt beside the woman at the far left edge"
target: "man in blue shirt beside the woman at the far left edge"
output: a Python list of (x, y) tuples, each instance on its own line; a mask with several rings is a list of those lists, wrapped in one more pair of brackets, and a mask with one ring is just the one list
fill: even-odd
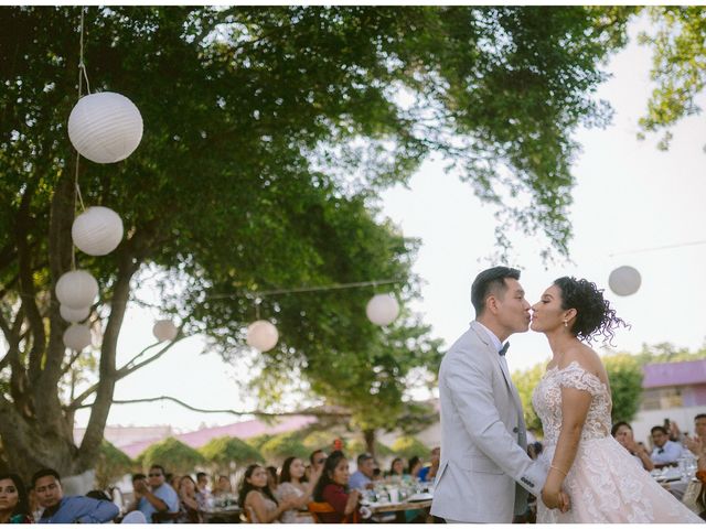
[(32, 476), (32, 488), (44, 508), (40, 523), (106, 523), (120, 512), (113, 501), (64, 496), (58, 473), (42, 468)]

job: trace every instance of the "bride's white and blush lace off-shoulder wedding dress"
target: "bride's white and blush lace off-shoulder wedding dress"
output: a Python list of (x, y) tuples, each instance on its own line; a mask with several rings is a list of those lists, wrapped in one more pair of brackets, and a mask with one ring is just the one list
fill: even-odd
[(542, 420), (549, 466), (561, 430), (561, 387), (588, 391), (591, 404), (574, 465), (564, 481), (571, 509), (561, 514), (537, 500), (537, 523), (699, 523), (703, 520), (662, 488), (634, 457), (610, 435), (608, 387), (577, 361), (548, 369), (532, 396)]

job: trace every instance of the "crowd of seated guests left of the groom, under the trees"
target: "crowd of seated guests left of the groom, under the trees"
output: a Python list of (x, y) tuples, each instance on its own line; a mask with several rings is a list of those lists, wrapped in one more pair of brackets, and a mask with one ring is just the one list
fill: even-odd
[(430, 464), (424, 466), (419, 456), (411, 457), (407, 464), (402, 457), (395, 457), (391, 471), (383, 473), (371, 454), (361, 454), (351, 474), (343, 452), (336, 450), (327, 455), (323, 450), (317, 450), (307, 462), (290, 456), (279, 468), (249, 465), (236, 494), (229, 476), (218, 475), (211, 489), (204, 472), (194, 477), (180, 476), (153, 464), (147, 474), (132, 475), (132, 499), (124, 512), (122, 506), (116, 505), (104, 490), (64, 495), (61, 476), (52, 468), (38, 471), (29, 486), (18, 474), (0, 474), (0, 523), (228, 521), (213, 516), (214, 511), (217, 514), (213, 508), (215, 504), (229, 506), (231, 512), (238, 512), (242, 521), (252, 523), (360, 521), (363, 517), (370, 518), (360, 501), (365, 490), (373, 489), (382, 479), (434, 481), (439, 468), (438, 447), (431, 451), (430, 460)]

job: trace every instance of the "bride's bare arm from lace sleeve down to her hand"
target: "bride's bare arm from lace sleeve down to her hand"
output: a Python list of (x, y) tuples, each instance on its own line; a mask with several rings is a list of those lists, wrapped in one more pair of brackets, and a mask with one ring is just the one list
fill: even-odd
[(588, 391), (561, 388), (561, 432), (556, 443), (547, 481), (542, 489), (542, 500), (552, 509), (561, 507), (561, 486), (574, 464), (591, 399), (592, 396)]

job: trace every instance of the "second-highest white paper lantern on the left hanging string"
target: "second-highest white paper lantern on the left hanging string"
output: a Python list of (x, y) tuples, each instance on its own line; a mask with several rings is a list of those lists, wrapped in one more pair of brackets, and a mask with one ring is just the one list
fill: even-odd
[(71, 236), (76, 248), (84, 253), (105, 256), (122, 240), (122, 220), (108, 207), (89, 207), (74, 220)]

